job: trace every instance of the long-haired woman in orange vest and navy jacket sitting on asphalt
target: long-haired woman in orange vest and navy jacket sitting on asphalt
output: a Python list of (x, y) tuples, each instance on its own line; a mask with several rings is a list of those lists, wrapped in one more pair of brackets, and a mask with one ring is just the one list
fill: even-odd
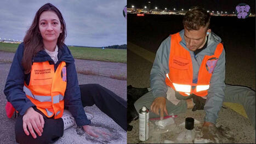
[(125, 100), (99, 84), (78, 85), (75, 60), (64, 44), (65, 37), (62, 14), (47, 3), (37, 11), (16, 50), (4, 94), (19, 113), (15, 124), (18, 143), (52, 143), (75, 123), (89, 135), (110, 137), (90, 125), (93, 115), (83, 107), (94, 104), (127, 129)]

